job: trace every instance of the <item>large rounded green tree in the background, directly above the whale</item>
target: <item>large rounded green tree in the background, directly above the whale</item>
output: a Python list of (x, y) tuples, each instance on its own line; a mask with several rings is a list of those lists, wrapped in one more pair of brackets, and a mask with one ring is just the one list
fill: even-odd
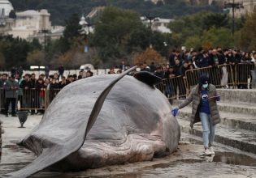
[(132, 53), (145, 51), (150, 46), (150, 41), (158, 53), (167, 57), (171, 44), (169, 34), (151, 32), (135, 11), (113, 6), (102, 12), (95, 23), (94, 34), (89, 38), (105, 67), (115, 65), (124, 58), (131, 59)]

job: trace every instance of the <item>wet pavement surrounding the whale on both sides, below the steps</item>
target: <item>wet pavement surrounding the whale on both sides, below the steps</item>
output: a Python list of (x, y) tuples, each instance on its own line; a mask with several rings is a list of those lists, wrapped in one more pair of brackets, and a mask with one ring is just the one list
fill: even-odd
[[(0, 162), (0, 176), (8, 172), (15, 172), (31, 163), (35, 155), (16, 142), (24, 138), (41, 120), (41, 116), (29, 116), (25, 129), (17, 128), (18, 118), (2, 117), (2, 157)], [(255, 177), (256, 155), (247, 154), (228, 146), (216, 145), (215, 156), (202, 155), (201, 138), (182, 134), (178, 150), (165, 158), (154, 159), (151, 162), (127, 163), (124, 165), (107, 166), (91, 169), (85, 172), (51, 172), (44, 170), (33, 177)]]

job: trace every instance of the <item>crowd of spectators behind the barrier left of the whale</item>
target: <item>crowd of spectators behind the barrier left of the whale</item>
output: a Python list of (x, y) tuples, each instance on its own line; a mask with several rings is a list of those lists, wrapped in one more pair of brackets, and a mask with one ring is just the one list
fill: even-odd
[[(17, 104), (20, 108), (28, 108), (31, 114), (36, 111), (42, 111), (46, 106), (46, 94), (48, 95), (47, 103), (54, 99), (54, 96), (69, 83), (73, 83), (81, 78), (93, 76), (91, 70), (80, 70), (79, 74), (69, 74), (66, 76), (63, 73), (53, 74), (46, 77), (46, 74), (24, 74), (20, 75), (19, 71), (15, 73), (11, 71), (11, 75), (0, 74), (0, 108), (2, 112), (9, 116), (16, 117)], [(9, 105), (11, 104), (11, 109)], [(37, 108), (33, 109), (33, 108)]]

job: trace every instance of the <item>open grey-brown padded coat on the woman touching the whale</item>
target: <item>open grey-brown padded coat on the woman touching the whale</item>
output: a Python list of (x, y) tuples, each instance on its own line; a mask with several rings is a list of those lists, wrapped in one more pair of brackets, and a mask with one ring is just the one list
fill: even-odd
[[(214, 85), (209, 84), (208, 87), (208, 98), (216, 96), (217, 91)], [(193, 128), (193, 124), (200, 122), (200, 117), (199, 117), (199, 109), (198, 106), (201, 103), (202, 99), (202, 94), (199, 92), (199, 84), (193, 88), (191, 91), (189, 97), (182, 102), (182, 104), (179, 105), (179, 108), (184, 108), (188, 104), (192, 102), (192, 116), (190, 118), (190, 126)], [(214, 125), (218, 124), (220, 122), (220, 117), (219, 117), (219, 110), (216, 104), (216, 100), (209, 100), (209, 105), (210, 105), (210, 116), (211, 119), (214, 123)]]

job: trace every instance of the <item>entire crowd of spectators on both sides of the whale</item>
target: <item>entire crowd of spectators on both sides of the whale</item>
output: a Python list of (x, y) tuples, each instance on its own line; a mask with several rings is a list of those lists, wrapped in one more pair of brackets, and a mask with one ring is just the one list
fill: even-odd
[[(215, 67), (219, 65), (236, 66), (238, 63), (254, 64), (256, 63), (256, 52), (246, 53), (236, 49), (221, 49), (220, 47), (209, 50), (193, 50), (184, 51), (173, 49), (167, 61), (167, 64), (156, 65), (154, 61), (150, 65), (142, 63), (139, 65), (141, 71), (149, 71), (159, 78), (174, 78), (182, 76), (185, 78), (187, 70), (193, 70), (204, 67)], [(119, 66), (115, 66), (108, 71), (108, 74), (120, 74), (124, 70), (128, 70), (129, 65), (121, 62)], [(50, 69), (46, 66), (45, 74), (23, 74), (23, 69), (12, 68), (11, 75), (0, 74), (0, 108), (5, 108), (3, 111), (8, 116), (9, 105), (11, 104), (11, 115), (16, 116), (15, 110), (17, 104), (20, 108), (29, 108), (31, 114), (36, 113), (33, 108), (46, 107), (46, 92), (49, 91), (48, 103), (53, 100), (59, 90), (81, 78), (93, 76), (91, 70), (80, 70), (79, 74), (68, 74), (64, 76), (64, 67), (59, 67), (59, 72), (53, 75), (50, 74)], [(185, 95), (184, 81), (180, 82), (180, 91)], [(170, 86), (169, 86), (170, 87)], [(171, 87), (170, 87), (171, 88)], [(171, 89), (168, 91), (171, 91)], [(176, 89), (172, 89), (175, 93)], [(29, 91), (29, 92), (28, 92)], [(32, 92), (33, 91), (33, 92)], [(18, 102), (19, 101), (19, 102)]]

